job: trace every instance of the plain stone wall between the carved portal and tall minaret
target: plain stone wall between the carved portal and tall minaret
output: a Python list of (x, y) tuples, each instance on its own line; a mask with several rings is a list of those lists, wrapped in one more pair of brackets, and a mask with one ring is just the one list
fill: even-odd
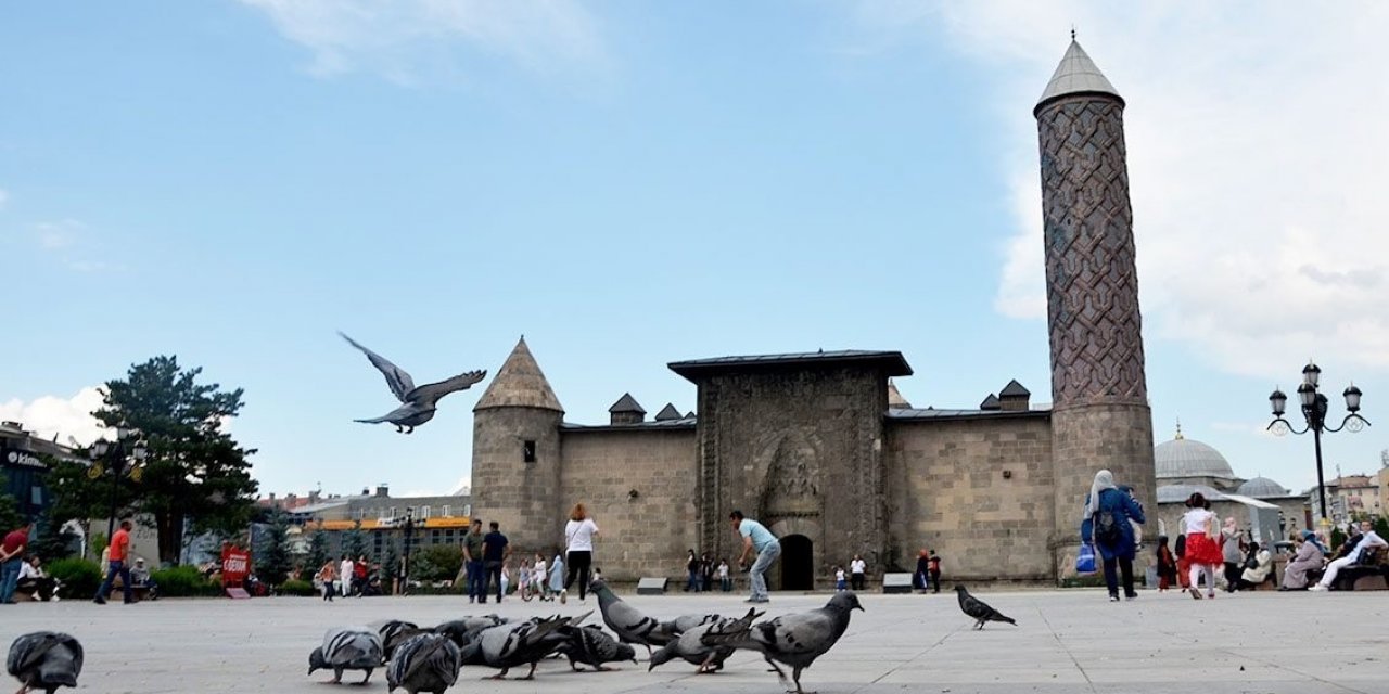
[(946, 582), (1051, 580), (1045, 415), (893, 421), (886, 434), (889, 541), (907, 570), (926, 547)]

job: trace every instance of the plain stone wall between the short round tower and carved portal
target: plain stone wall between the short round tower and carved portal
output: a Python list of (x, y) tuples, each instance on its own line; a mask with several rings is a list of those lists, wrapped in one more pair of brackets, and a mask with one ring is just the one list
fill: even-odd
[(589, 507), (603, 576), (682, 576), (686, 550), (699, 547), (694, 429), (567, 430), (563, 441), (563, 505)]

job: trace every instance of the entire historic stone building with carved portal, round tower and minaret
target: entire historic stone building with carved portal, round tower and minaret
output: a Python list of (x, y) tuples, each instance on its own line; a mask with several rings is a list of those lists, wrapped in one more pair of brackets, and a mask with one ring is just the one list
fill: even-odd
[(913, 408), (892, 382), (911, 375), (901, 353), (846, 350), (672, 362), (697, 416), (646, 421), (624, 394), (585, 426), (522, 339), (474, 408), (476, 515), (551, 552), (583, 501), (594, 562), (619, 580), (679, 575), (689, 548), (732, 559), (733, 509), (782, 539), (774, 587), (824, 584), (853, 554), (872, 575), (913, 566), (922, 547), (953, 579), (1061, 580), (1096, 471), (1156, 505), (1122, 112), (1075, 42), (1033, 110), (1050, 407), (1011, 382), (976, 408)]

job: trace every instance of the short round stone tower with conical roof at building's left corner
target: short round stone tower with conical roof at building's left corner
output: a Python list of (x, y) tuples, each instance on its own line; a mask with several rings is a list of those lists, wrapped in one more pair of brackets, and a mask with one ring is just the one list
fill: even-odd
[(472, 518), (501, 523), (514, 552), (549, 557), (561, 541), (563, 419), (522, 337), (472, 408)]

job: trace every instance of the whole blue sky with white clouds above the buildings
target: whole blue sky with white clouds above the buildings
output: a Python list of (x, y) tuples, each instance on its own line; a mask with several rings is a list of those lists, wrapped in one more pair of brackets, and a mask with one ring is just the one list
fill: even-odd
[[(1050, 400), (1032, 107), (1072, 28), (1125, 111), (1157, 441), (1303, 490), (1314, 358), (1389, 448), (1389, 6), (210, 0), (0, 10), (0, 419), (88, 443), (158, 354), (246, 390), (263, 491), (464, 486), (419, 383), (524, 335), (567, 419), (671, 361), (900, 350), (917, 407)], [(1379, 423), (1382, 421), (1382, 423)]]

